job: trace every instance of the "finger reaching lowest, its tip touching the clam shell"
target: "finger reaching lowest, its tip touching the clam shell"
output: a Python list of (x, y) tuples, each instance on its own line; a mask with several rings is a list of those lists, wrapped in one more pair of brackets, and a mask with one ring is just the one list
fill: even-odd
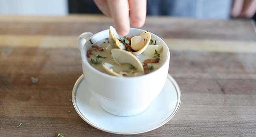
[(127, 35), (130, 29), (128, 1), (108, 0), (108, 7), (117, 33), (121, 36)]

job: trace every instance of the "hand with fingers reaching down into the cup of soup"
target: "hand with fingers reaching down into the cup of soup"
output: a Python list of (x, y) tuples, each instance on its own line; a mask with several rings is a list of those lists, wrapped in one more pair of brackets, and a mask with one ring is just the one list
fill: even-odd
[[(134, 27), (142, 27), (146, 19), (147, 0), (94, 0), (100, 11), (113, 18), (117, 33), (129, 33), (130, 22)], [(130, 17), (129, 17), (130, 11)]]

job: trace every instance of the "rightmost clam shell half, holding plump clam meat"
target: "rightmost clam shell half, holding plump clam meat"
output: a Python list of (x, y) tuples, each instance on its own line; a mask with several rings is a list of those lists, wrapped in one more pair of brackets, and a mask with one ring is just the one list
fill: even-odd
[(131, 47), (135, 52), (132, 52), (135, 56), (141, 54), (145, 49), (147, 49), (148, 44), (151, 39), (151, 34), (149, 32), (143, 32), (138, 36), (131, 38)]

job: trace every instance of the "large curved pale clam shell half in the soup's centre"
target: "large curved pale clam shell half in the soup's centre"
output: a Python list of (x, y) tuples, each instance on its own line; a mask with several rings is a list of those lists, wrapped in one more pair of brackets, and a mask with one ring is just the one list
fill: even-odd
[(121, 49), (112, 49), (111, 55), (114, 61), (119, 65), (128, 63), (133, 65), (137, 71), (144, 72), (142, 63), (131, 52)]

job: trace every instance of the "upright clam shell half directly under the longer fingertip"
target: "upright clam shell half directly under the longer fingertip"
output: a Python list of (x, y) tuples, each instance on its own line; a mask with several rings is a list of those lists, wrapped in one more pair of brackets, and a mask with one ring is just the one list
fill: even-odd
[(109, 43), (113, 48), (118, 49), (125, 49), (125, 46), (123, 43), (121, 43), (119, 40), (121, 40), (121, 37), (119, 34), (117, 34), (117, 31), (115, 31), (115, 28), (112, 26), (109, 27)]

